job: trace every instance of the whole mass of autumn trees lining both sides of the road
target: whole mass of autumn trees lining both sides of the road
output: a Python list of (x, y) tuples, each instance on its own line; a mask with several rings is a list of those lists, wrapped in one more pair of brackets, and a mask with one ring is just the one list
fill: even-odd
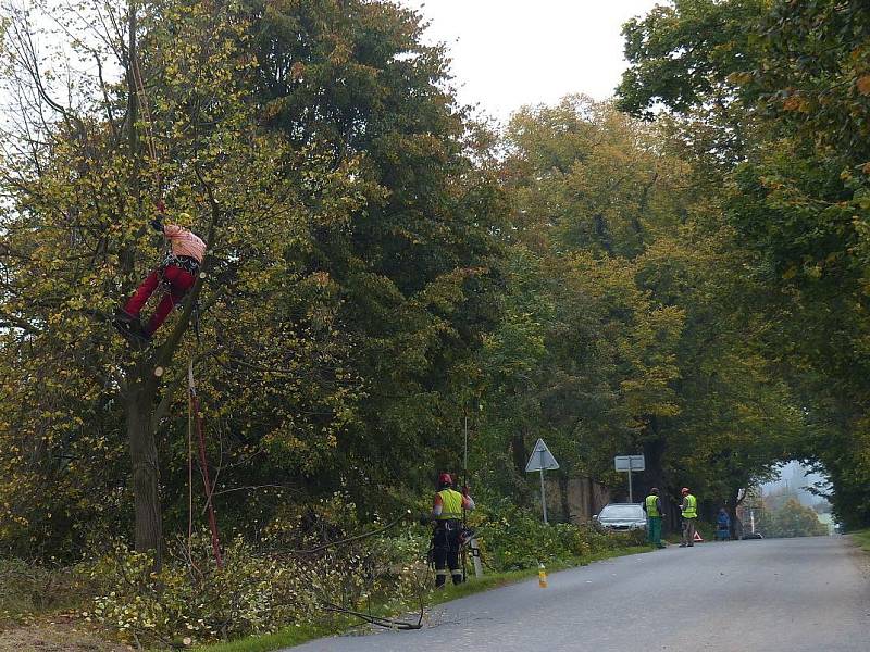
[[(57, 49), (36, 4), (0, 23), (7, 553), (120, 537), (160, 565), (206, 506), (188, 369), (221, 532), (253, 547), (328, 501), (417, 506), (467, 423), (484, 505), (532, 504), (543, 437), (562, 487), (622, 491), (612, 456), (643, 452), (641, 489), (733, 516), (806, 459), (870, 519), (859, 3), (676, 0), (625, 27), (616, 101), (502, 134), (390, 2), (79, 10)], [(136, 348), (110, 321), (159, 200), (208, 251)]]

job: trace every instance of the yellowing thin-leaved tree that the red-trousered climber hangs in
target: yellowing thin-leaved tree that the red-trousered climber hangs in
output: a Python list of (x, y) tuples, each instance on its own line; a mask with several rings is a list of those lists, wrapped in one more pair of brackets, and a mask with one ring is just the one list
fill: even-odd
[[(174, 442), (160, 442), (161, 451), (158, 438), (186, 379), (182, 356), (190, 364), (226, 356), (225, 340), (244, 337), (253, 306), (262, 312), (276, 287), (310, 274), (300, 251), (316, 228), (340, 230), (364, 201), (363, 181), (352, 159), (336, 167), (316, 143), (296, 147), (261, 128), (244, 84), (252, 60), (238, 7), (92, 11), (95, 24), (113, 27), (76, 41), (99, 74), (72, 77), (69, 104), (52, 96), (54, 77), (32, 49), (27, 14), (14, 16), (9, 46), (18, 101), (35, 102), (42, 120), (25, 116), (2, 171), (12, 200), (2, 250), (3, 386), (21, 399), (4, 402), (4, 465), (17, 478), (4, 492), (26, 488), (7, 493), (8, 525), (69, 539), (73, 522), (80, 541), (76, 529), (123, 507), (132, 492), (136, 547), (159, 553), (160, 488), (173, 484), (160, 466)], [(119, 83), (103, 77), (109, 53), (124, 71)], [(164, 192), (167, 220), (194, 214), (187, 226), (208, 241), (204, 283), (153, 348), (136, 351), (109, 318), (159, 260), (146, 226)], [(210, 346), (197, 352), (185, 335), (198, 298)], [(220, 331), (219, 319), (233, 327)], [(335, 416), (344, 394), (332, 393)], [(326, 415), (319, 421), (318, 429), (332, 427)], [(116, 456), (124, 439), (128, 465)]]

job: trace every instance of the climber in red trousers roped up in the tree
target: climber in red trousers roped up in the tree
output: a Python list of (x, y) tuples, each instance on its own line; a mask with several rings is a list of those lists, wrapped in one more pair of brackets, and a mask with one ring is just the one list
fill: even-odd
[[(158, 209), (162, 209), (162, 205), (159, 205)], [(179, 213), (178, 217), (185, 224), (190, 222), (190, 216), (186, 213)], [(206, 243), (196, 234), (183, 226), (163, 224), (162, 210), (151, 221), (151, 226), (169, 240), (170, 252), (160, 263), (160, 266), (142, 281), (124, 308), (117, 309), (115, 318), (112, 322), (124, 337), (141, 342), (151, 341), (151, 337), (166, 319), (172, 309), (194, 287), (202, 259), (206, 255)], [(161, 281), (166, 289), (166, 293), (158, 304), (148, 324), (142, 326), (139, 321), (139, 313)]]

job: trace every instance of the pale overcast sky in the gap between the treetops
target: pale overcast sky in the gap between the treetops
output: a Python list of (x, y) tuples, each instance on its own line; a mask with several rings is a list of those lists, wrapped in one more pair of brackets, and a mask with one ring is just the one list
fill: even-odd
[[(622, 24), (666, 0), (399, 0), (450, 47), (463, 103), (506, 120), (523, 104), (613, 95), (625, 68)], [(421, 9), (422, 7), (422, 9)]]

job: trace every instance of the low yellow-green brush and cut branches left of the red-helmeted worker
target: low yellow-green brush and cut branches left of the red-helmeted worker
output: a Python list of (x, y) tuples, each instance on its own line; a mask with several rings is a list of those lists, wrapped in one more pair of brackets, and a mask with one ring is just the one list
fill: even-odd
[[(268, 544), (257, 548), (240, 537), (232, 540), (224, 548), (223, 568), (212, 559), (207, 532), (190, 549), (186, 540), (177, 541), (160, 573), (152, 572), (150, 555), (116, 544), (84, 569), (99, 587), (84, 616), (126, 642), (186, 645), (310, 624), (331, 611), (400, 607), (428, 589), (419, 528), (328, 547), (347, 532), (338, 524), (319, 522), (328, 539), (318, 550), (322, 539), (291, 535), (285, 526), (281, 536), (273, 532)], [(303, 541), (306, 548), (275, 543), (288, 540)]]

